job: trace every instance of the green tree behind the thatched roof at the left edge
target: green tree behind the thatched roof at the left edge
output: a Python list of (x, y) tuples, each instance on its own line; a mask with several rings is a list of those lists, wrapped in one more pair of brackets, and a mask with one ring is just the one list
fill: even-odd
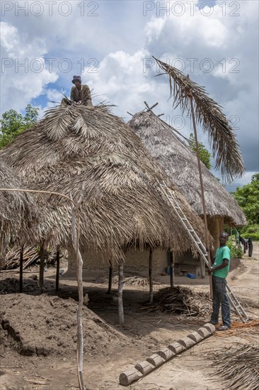
[(16, 135), (23, 133), (33, 123), (38, 121), (39, 108), (28, 104), (25, 108), (25, 115), (22, 116), (15, 110), (3, 113), (1, 118), (0, 149), (11, 143)]

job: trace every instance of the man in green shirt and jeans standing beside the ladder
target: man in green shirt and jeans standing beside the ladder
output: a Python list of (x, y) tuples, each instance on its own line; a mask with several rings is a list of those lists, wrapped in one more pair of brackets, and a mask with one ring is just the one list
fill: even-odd
[(211, 323), (216, 325), (219, 322), (219, 308), (221, 306), (223, 325), (218, 330), (228, 330), (231, 328), (229, 298), (226, 294), (226, 277), (229, 274), (230, 250), (226, 246), (229, 238), (228, 233), (219, 233), (219, 247), (214, 258), (214, 264), (209, 269), (212, 274), (213, 291), (213, 312)]

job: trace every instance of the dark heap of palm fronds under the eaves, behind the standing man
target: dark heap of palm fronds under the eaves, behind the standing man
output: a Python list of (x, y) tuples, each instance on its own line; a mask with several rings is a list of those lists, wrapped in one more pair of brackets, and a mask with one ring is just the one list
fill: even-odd
[(148, 311), (183, 314), (185, 316), (209, 316), (212, 302), (209, 294), (195, 293), (191, 289), (181, 286), (161, 289), (152, 303), (146, 305)]

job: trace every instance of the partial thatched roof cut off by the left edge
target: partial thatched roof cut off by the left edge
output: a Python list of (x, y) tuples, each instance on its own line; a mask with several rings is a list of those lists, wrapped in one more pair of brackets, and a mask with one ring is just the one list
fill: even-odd
[[(23, 188), (3, 159), (0, 160), (0, 183), (1, 188)], [(29, 194), (0, 191), (0, 257), (10, 241), (19, 245), (34, 242), (33, 223), (37, 218), (38, 208)]]

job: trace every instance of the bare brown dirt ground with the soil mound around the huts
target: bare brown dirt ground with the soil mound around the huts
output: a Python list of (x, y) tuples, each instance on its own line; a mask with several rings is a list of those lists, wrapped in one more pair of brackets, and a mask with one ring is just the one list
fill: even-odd
[[(66, 269), (66, 262), (62, 268)], [(0, 273), (0, 384), (1, 390), (79, 389), (76, 366), (76, 281), (64, 274), (54, 289), (55, 268), (45, 272), (45, 291), (40, 295), (38, 268), (24, 274), (24, 292), (18, 294), (18, 273)], [(259, 243), (253, 257), (232, 261), (228, 282), (236, 296), (249, 306), (251, 319), (258, 318)], [(168, 286), (161, 277), (156, 289)], [(175, 277), (175, 284), (196, 292), (208, 292), (208, 277)], [(147, 286), (125, 286), (125, 325), (118, 324), (117, 306), (107, 283), (84, 281), (88, 308), (84, 307), (84, 379), (89, 390), (119, 390), (120, 373), (134, 367), (173, 340), (179, 340), (209, 321), (209, 316), (186, 318), (143, 309)], [(232, 313), (232, 321), (239, 321)], [(208, 339), (164, 363), (139, 381), (127, 386), (134, 390), (223, 390), (214, 374), (212, 355), (240, 344), (258, 342), (258, 328), (219, 331)]]

